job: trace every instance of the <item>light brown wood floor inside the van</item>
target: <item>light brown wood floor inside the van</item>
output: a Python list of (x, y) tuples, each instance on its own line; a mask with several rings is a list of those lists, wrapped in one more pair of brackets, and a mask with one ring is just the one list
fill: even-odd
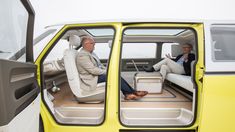
[[(78, 103), (69, 88), (68, 83), (58, 86), (61, 90), (57, 93), (50, 92), (55, 100), (55, 107), (104, 107), (104, 103), (85, 104)], [(192, 101), (169, 86), (164, 88), (162, 94), (149, 94), (137, 101), (125, 101), (122, 99), (122, 108), (185, 108), (192, 110)]]

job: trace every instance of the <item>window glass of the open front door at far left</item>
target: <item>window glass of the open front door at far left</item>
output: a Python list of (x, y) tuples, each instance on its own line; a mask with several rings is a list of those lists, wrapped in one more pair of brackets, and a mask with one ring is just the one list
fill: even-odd
[[(28, 12), (20, 0), (2, 2), (0, 4), (0, 58), (17, 60), (22, 53), (25, 53)], [(26, 58), (21, 61), (25, 62)]]

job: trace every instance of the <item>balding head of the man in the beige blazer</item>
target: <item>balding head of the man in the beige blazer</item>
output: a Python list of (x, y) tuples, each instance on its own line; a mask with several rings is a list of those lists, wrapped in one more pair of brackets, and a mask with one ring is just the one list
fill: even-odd
[(89, 52), (93, 52), (93, 50), (95, 49), (95, 41), (91, 37), (82, 37), (81, 44), (82, 47)]

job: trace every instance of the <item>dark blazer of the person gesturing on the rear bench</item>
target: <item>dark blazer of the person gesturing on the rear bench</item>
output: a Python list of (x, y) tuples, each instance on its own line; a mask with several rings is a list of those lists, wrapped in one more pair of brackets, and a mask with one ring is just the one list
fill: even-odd
[[(173, 59), (175, 62), (177, 62), (183, 54), (178, 55), (175, 59)], [(183, 63), (185, 75), (190, 76), (191, 75), (191, 62), (195, 60), (195, 55), (193, 53), (188, 54), (188, 61)]]

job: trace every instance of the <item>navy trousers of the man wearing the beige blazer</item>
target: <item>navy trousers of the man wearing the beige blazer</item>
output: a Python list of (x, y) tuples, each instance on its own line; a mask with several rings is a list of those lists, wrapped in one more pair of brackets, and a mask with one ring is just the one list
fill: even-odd
[[(106, 82), (106, 75), (98, 76), (98, 83)], [(121, 91), (124, 95), (132, 94), (135, 90), (121, 77)]]

